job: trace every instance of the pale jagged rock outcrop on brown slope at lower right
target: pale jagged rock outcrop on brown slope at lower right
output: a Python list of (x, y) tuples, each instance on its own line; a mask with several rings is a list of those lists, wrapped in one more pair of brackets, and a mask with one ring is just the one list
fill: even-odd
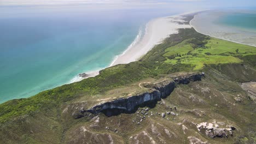
[(219, 128), (218, 124), (213, 123), (207, 123), (203, 122), (196, 125), (197, 130), (203, 133), (205, 131), (205, 134), (212, 139), (214, 137), (229, 137), (233, 136), (233, 130), (235, 130), (235, 127), (232, 127), (229, 125), (229, 128)]

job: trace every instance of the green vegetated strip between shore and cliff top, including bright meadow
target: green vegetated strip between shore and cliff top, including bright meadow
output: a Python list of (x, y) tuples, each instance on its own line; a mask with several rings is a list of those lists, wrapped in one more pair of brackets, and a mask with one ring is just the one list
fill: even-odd
[[(239, 50), (237, 53), (236, 49)], [(60, 105), (81, 95), (103, 93), (147, 77), (178, 71), (201, 71), (206, 64), (241, 63), (245, 60), (255, 67), (255, 55), (255, 47), (210, 38), (193, 28), (180, 29), (178, 34), (170, 35), (139, 62), (107, 68), (96, 77), (1, 104), (0, 123), (45, 105)]]

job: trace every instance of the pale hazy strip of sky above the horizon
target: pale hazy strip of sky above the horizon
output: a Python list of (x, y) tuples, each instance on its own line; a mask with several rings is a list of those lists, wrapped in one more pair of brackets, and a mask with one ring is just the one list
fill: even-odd
[(256, 7), (256, 0), (0, 0), (0, 5), (70, 5), (84, 4), (92, 7), (172, 7), (210, 9), (226, 7)]

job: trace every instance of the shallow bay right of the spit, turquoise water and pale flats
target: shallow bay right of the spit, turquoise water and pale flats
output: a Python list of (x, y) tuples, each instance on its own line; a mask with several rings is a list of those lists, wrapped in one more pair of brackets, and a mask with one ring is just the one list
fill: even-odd
[(235, 43), (256, 46), (256, 10), (210, 10), (190, 22), (196, 31)]

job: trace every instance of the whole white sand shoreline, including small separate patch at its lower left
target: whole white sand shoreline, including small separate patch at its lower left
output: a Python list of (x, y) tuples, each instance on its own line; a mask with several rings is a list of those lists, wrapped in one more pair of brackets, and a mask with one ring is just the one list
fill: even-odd
[[(127, 49), (118, 56), (115, 56), (109, 67), (117, 64), (126, 64), (130, 62), (138, 61), (143, 55), (146, 55), (155, 45), (161, 44), (164, 39), (169, 37), (170, 34), (178, 33), (179, 28), (191, 28), (183, 22), (187, 22), (182, 15), (193, 14), (198, 11), (191, 11), (188, 13), (182, 13), (178, 15), (171, 15), (166, 17), (158, 17), (150, 20), (145, 29), (144, 35), (142, 31), (138, 32), (137, 37)], [(181, 24), (183, 23), (183, 24)], [(108, 67), (107, 67), (108, 68)], [(100, 70), (89, 71), (85, 77), (75, 76), (70, 83), (78, 82), (89, 77), (94, 77), (99, 74)], [(85, 73), (83, 73), (85, 74)]]

